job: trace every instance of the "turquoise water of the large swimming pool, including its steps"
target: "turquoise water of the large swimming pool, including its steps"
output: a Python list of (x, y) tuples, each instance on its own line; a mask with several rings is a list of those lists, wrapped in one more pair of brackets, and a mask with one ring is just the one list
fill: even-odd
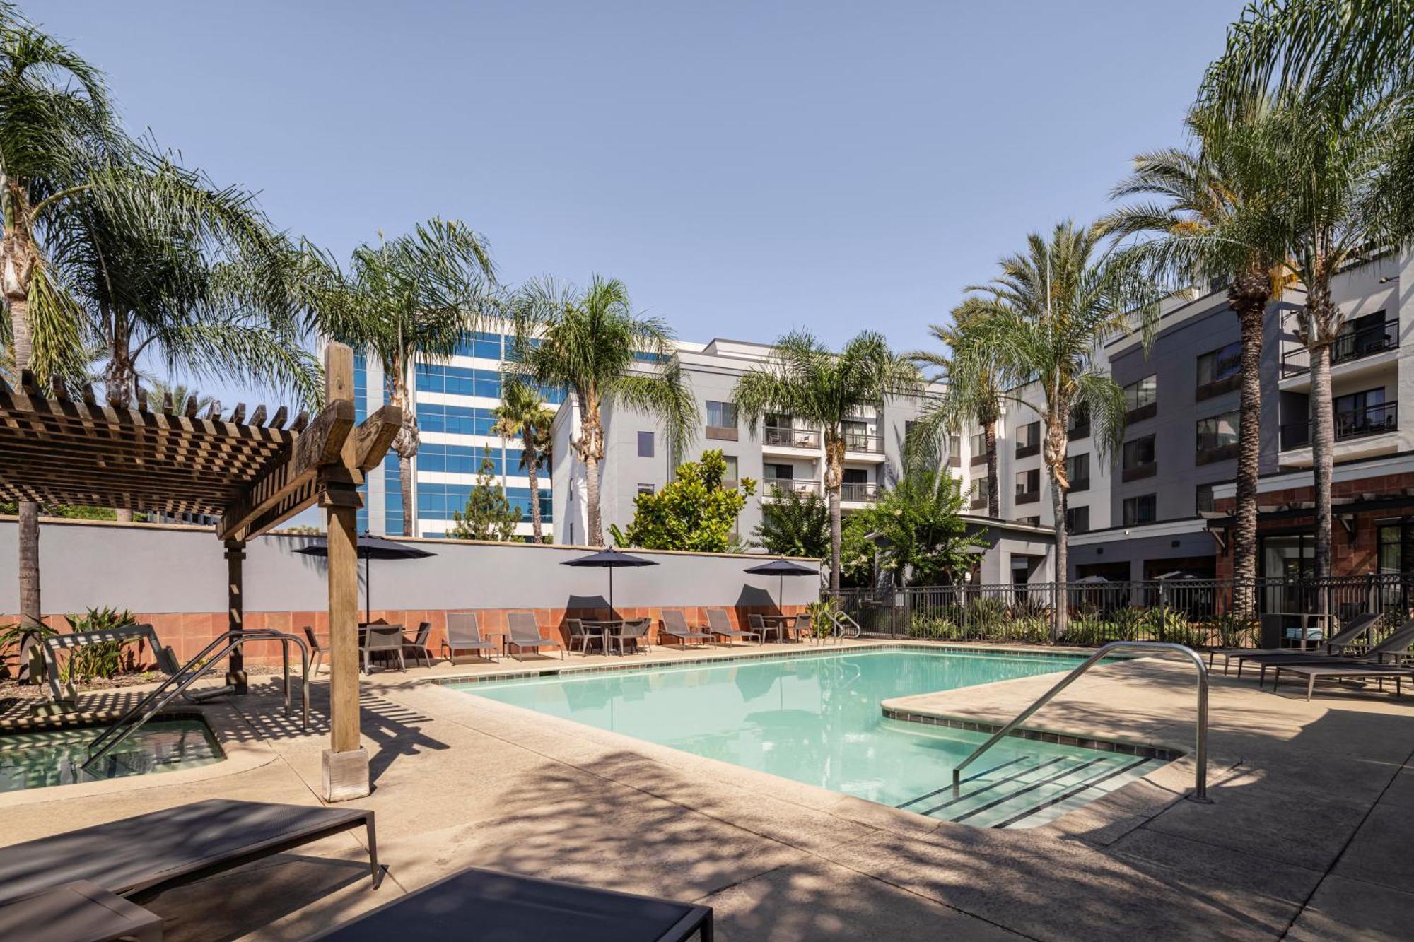
[(1034, 827), (1164, 760), (1008, 737), (969, 767), (954, 801), (952, 769), (987, 734), (888, 720), (880, 702), (1069, 670), (1080, 661), (874, 651), (455, 686), (935, 818)]

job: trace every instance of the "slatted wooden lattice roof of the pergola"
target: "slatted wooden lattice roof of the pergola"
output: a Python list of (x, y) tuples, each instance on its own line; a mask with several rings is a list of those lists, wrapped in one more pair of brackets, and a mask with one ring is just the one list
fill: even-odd
[(154, 410), (143, 395), (123, 409), (88, 385), (75, 397), (62, 383), (44, 395), (28, 372), (20, 389), (0, 380), (0, 499), (222, 515), (290, 455), (308, 417), (219, 409), (168, 397)]

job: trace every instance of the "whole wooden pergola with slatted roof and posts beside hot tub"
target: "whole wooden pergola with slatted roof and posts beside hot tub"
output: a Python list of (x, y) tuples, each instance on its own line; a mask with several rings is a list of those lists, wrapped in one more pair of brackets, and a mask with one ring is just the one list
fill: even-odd
[[(219, 406), (202, 413), (195, 399), (157, 405), (139, 396), (136, 409), (124, 409), (99, 402), (90, 386), (74, 396), (54, 383), (45, 395), (28, 373), (20, 389), (0, 380), (0, 499), (218, 518), (230, 631), (245, 622), (246, 543), (308, 506), (324, 508), (331, 726), (324, 796), (342, 801), (369, 792), (358, 720), (358, 488), (387, 453), (402, 413), (385, 406), (355, 426), (352, 351), (329, 344), (324, 369), (324, 412), (288, 424), (286, 409), (267, 420), (259, 406), (247, 420), (238, 405), (223, 419)], [(239, 648), (228, 683), (245, 692)]]

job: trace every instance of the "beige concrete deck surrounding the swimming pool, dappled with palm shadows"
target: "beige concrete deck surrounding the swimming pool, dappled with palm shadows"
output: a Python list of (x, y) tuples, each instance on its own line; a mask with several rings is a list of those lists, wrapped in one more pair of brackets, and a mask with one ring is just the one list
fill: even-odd
[[(563, 663), (600, 662), (617, 659)], [(724, 939), (1396, 939), (1414, 918), (1414, 699), (1328, 687), (1307, 703), (1297, 685), (1273, 694), (1219, 673), (1213, 805), (1182, 801), (1181, 760), (1052, 825), (980, 830), (426, 683), (518, 668), (363, 680), (375, 792), (355, 803), (379, 816), (382, 888), (341, 836), (163, 892), (148, 905), (167, 938), (300, 939), (465, 866), (706, 902)], [(1004, 721), (1055, 679), (904, 700)], [(270, 761), (54, 789), (0, 809), (0, 843), (202, 798), (315, 803), (324, 690), (310, 734), (280, 713), (277, 685), (218, 707)], [(1189, 748), (1192, 713), (1192, 668), (1145, 659), (1097, 668), (1031, 726)]]

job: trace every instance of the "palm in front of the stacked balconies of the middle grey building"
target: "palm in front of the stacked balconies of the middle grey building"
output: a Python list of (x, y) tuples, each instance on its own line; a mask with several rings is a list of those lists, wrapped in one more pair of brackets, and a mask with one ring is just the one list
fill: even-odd
[(839, 354), (813, 334), (792, 331), (776, 341), (765, 366), (747, 371), (732, 397), (755, 433), (766, 413), (820, 426), (824, 438), (824, 489), (830, 498), (830, 590), (840, 590), (840, 484), (844, 479), (844, 424), (855, 410), (885, 397), (922, 395), (922, 378), (892, 352), (882, 334), (864, 331)]

